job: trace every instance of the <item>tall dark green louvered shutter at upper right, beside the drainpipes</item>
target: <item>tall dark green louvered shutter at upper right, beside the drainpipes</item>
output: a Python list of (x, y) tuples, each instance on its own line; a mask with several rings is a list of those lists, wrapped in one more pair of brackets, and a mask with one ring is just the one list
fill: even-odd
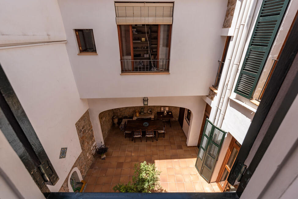
[(234, 92), (251, 99), (289, 0), (263, 0)]

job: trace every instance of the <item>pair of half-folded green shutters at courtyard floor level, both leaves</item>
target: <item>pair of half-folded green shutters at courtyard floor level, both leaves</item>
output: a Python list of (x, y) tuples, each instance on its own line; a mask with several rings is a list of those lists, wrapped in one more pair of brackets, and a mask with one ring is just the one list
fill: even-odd
[(225, 135), (225, 131), (214, 126), (210, 120), (206, 119), (195, 166), (207, 182), (210, 182)]

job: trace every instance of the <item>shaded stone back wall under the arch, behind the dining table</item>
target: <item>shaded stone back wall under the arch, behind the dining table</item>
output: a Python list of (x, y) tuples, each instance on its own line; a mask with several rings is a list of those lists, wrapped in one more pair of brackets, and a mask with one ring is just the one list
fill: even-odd
[(123, 118), (133, 118), (135, 110), (140, 111), (141, 108), (144, 108), (144, 113), (147, 113), (149, 109), (153, 110), (154, 119), (157, 118), (157, 112), (160, 111), (161, 107), (169, 107), (169, 111), (173, 113), (172, 120), (178, 120), (179, 107), (172, 106), (136, 106), (136, 107), (122, 107), (114, 108), (107, 111), (103, 111), (99, 114), (99, 122), (101, 126), (102, 137), (105, 138), (108, 136), (109, 131), (111, 130), (113, 124), (112, 117), (118, 117), (118, 123), (122, 121)]

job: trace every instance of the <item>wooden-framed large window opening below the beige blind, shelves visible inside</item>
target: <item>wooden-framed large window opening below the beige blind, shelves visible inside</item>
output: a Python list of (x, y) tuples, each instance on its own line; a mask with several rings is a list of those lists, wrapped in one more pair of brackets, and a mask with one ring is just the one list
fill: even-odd
[(171, 24), (118, 25), (121, 73), (168, 72)]

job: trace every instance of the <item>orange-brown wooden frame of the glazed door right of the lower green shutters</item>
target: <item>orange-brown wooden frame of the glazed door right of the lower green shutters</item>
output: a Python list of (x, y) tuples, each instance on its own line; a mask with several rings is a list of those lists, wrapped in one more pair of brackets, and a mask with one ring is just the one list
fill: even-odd
[[(225, 158), (224, 158), (224, 160), (223, 160), (223, 164), (222, 164), (222, 166), (220, 167), (218, 176), (217, 176), (216, 181), (215, 181), (215, 182), (217, 183), (217, 186), (219, 187), (219, 189), (220, 189), (222, 192), (226, 191), (226, 189), (227, 189), (227, 187), (228, 187), (228, 183), (229, 183), (229, 182), (228, 182), (228, 176), (229, 176), (230, 171), (231, 171), (231, 168), (228, 167), (226, 164), (228, 163), (228, 161), (229, 161), (229, 159), (230, 159), (230, 157), (231, 157), (231, 154), (232, 154), (233, 149), (234, 149), (234, 148), (237, 149), (237, 151), (238, 151), (237, 154), (236, 154), (236, 157), (237, 157), (237, 155), (238, 155), (238, 153), (239, 153), (239, 150), (240, 150), (240, 147), (241, 147), (241, 146), (237, 145), (236, 142), (237, 142), (237, 140), (233, 137), (232, 140), (231, 140), (231, 142), (230, 142), (229, 148), (228, 148), (227, 151), (226, 151), (226, 156), (225, 156)], [(236, 157), (235, 157), (235, 160), (236, 160)], [(234, 164), (235, 160), (233, 161), (233, 164)], [(232, 167), (233, 167), (233, 164), (232, 164)], [(227, 178), (226, 178), (226, 180), (225, 180), (225, 182), (224, 182), (224, 185), (222, 186), (222, 185), (220, 184), (220, 179), (222, 178), (222, 176), (223, 176), (223, 172), (225, 171), (225, 169), (226, 169), (229, 173), (228, 173)]]

